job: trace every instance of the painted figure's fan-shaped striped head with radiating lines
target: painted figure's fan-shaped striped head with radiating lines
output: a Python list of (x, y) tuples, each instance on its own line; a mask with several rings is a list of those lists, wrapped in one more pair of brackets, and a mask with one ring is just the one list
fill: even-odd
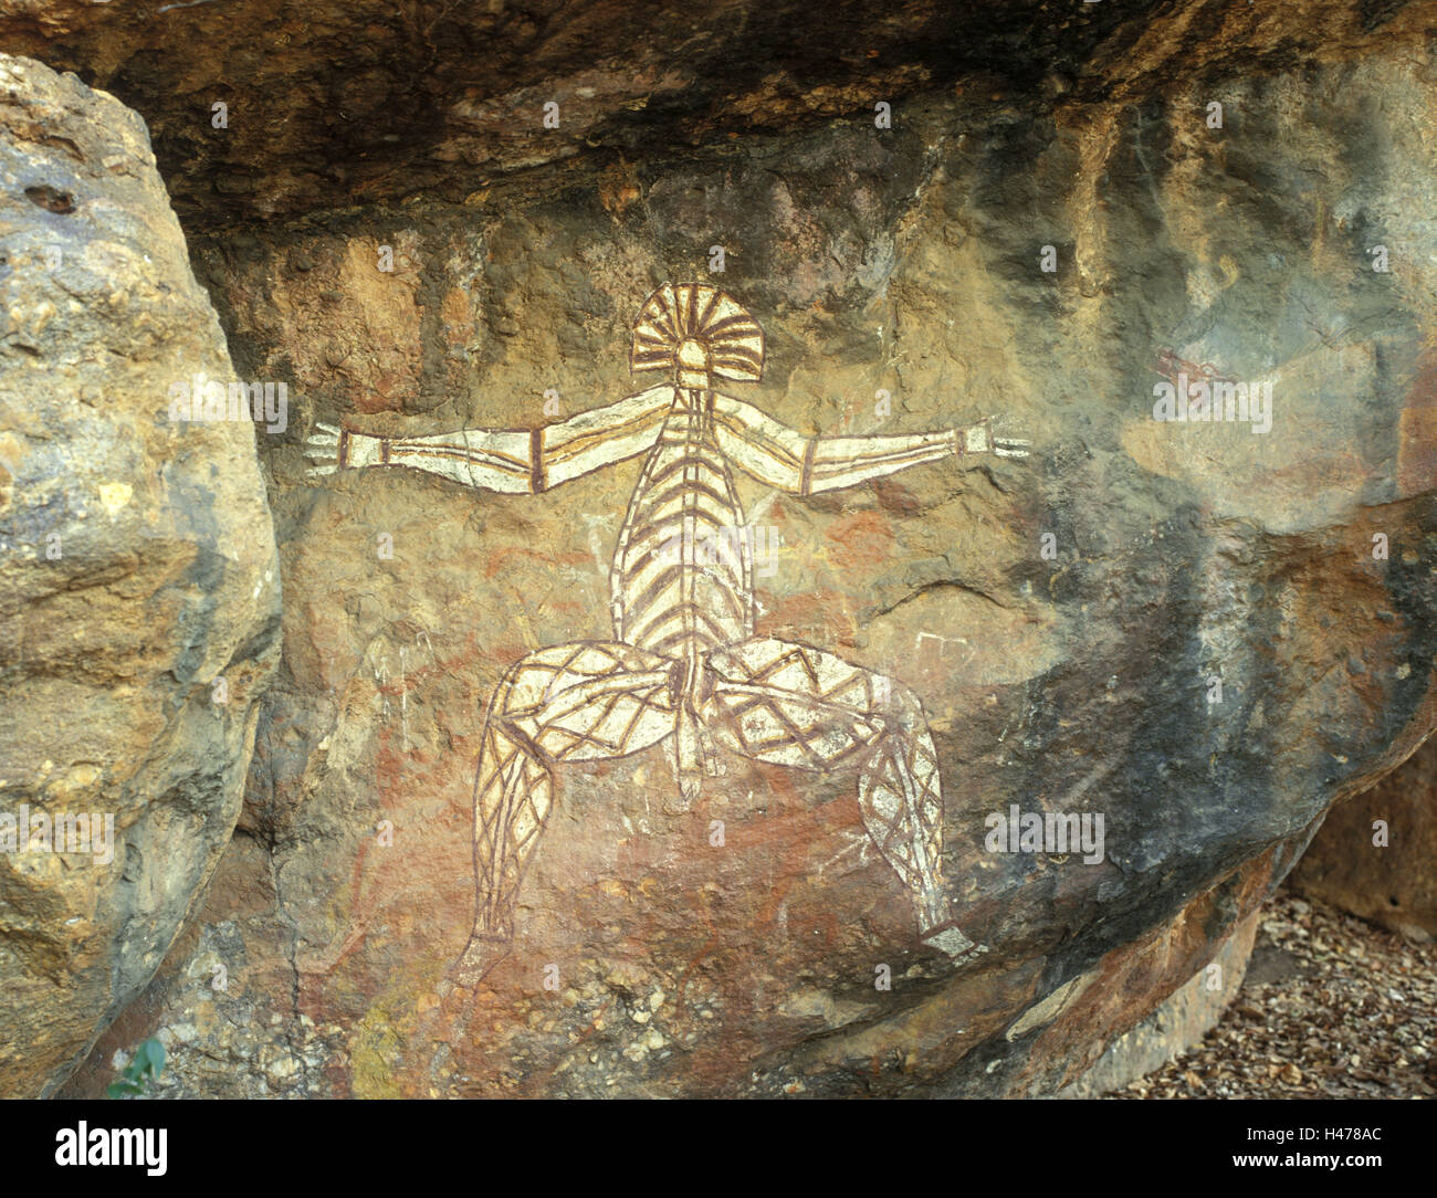
[(711, 379), (763, 378), (763, 329), (730, 296), (707, 283), (665, 283), (634, 322), (629, 369), (667, 371), (678, 386)]

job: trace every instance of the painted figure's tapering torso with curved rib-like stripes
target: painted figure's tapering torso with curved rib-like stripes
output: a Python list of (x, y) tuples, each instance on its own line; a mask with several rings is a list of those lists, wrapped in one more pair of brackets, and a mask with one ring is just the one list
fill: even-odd
[(753, 635), (749, 530), (711, 408), (711, 391), (675, 388), (609, 577), (618, 639), (673, 658)]

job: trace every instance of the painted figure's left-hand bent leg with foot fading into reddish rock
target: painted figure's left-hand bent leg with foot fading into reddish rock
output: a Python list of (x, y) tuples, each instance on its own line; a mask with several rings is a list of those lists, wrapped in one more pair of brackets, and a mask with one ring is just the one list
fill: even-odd
[(553, 799), (552, 766), (657, 744), (674, 731), (675, 687), (675, 662), (611, 642), (540, 649), (504, 675), (480, 741), (474, 932), (457, 981), (479, 983), (513, 939), (514, 901)]

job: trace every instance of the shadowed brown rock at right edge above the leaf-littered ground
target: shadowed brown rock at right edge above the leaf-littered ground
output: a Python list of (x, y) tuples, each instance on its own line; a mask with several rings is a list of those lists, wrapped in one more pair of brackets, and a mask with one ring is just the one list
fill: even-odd
[(1331, 810), (1292, 881), (1411, 939), (1437, 937), (1437, 743)]

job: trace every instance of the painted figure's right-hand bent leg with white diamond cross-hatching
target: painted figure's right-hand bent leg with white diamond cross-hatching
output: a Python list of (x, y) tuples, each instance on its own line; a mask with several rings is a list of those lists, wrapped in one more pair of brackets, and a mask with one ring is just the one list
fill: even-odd
[(743, 757), (858, 767), (864, 826), (907, 886), (920, 938), (950, 957), (973, 949), (944, 892), (938, 756), (907, 687), (822, 649), (754, 638), (708, 656), (703, 717)]

